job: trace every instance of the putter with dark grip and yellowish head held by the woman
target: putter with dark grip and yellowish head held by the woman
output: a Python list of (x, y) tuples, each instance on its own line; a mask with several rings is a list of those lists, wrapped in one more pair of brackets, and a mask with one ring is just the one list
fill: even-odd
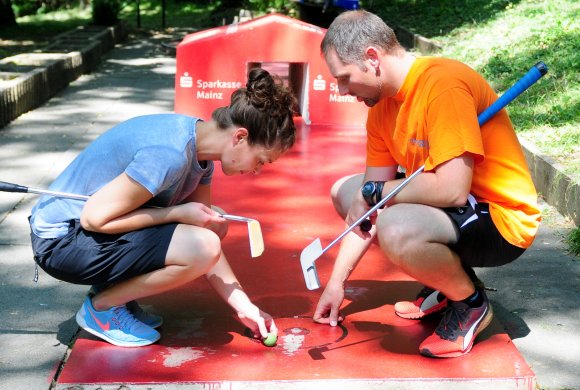
[[(2, 192), (21, 192), (27, 194), (49, 195), (57, 198), (68, 198), (86, 201), (89, 199), (86, 195), (71, 194), (67, 192), (56, 192), (38, 188), (25, 187), (19, 184), (6, 183), (0, 181), (0, 191)], [(248, 239), (250, 241), (250, 255), (258, 257), (264, 253), (264, 238), (262, 237), (262, 228), (260, 222), (256, 219), (240, 217), (238, 215), (222, 214), (222, 217), (229, 221), (245, 222), (248, 226)]]

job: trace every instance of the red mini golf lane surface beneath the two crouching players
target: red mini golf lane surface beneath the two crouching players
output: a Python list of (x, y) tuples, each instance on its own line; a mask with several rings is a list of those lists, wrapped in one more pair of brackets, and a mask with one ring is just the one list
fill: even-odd
[[(152, 346), (115, 347), (81, 331), (59, 388), (534, 388), (534, 373), (497, 320), (466, 356), (419, 355), (419, 344), (438, 319), (418, 322), (394, 314), (394, 303), (413, 298), (421, 286), (388, 269), (376, 246), (347, 285), (344, 323), (331, 328), (312, 322), (322, 289), (306, 289), (300, 252), (315, 238), (324, 247), (343, 231), (329, 190), (336, 179), (363, 169), (365, 135), (361, 128), (299, 126), (296, 146), (260, 175), (224, 177), (216, 166), (214, 181), (215, 204), (262, 225), (261, 257), (250, 257), (243, 223), (230, 224), (223, 246), (248, 295), (276, 319), (277, 345), (250, 339), (200, 279), (142, 301), (165, 321), (161, 340)], [(337, 248), (316, 262), (323, 286)]]

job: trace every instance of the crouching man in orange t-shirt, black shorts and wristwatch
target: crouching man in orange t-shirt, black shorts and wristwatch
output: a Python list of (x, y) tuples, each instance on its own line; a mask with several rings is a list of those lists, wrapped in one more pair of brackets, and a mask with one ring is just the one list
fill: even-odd
[(492, 309), (472, 267), (518, 258), (537, 232), (537, 194), (505, 110), (485, 125), (477, 115), (497, 95), (468, 66), (416, 58), (393, 30), (366, 11), (349, 11), (331, 24), (322, 53), (342, 95), (371, 107), (364, 174), (332, 188), (348, 225), (395, 188), (399, 167), (415, 177), (372, 218), (370, 232), (346, 235), (314, 320), (336, 326), (348, 279), (376, 236), (386, 259), (425, 288), (398, 302), (397, 315), (421, 319), (445, 312), (421, 343), (432, 357), (461, 356), (491, 321)]

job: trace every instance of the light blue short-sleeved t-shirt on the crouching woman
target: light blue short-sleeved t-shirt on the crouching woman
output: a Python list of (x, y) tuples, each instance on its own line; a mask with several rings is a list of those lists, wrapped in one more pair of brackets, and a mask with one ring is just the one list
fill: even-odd
[[(213, 174), (213, 161), (197, 161), (199, 120), (179, 114), (129, 119), (93, 141), (49, 189), (90, 196), (126, 173), (153, 195), (148, 205), (179, 204), (199, 184), (210, 184)], [(32, 209), (32, 231), (41, 238), (61, 237), (83, 206), (80, 200), (42, 196)]]

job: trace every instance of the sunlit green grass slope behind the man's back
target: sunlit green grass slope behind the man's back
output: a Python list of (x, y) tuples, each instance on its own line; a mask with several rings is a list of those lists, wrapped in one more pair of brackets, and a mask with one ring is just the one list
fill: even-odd
[[(565, 10), (565, 11), (563, 11)], [(574, 0), (520, 1), (493, 20), (458, 27), (439, 40), (442, 55), (475, 67), (505, 91), (534, 63), (548, 74), (510, 103), (518, 135), (580, 179), (580, 5)]]

